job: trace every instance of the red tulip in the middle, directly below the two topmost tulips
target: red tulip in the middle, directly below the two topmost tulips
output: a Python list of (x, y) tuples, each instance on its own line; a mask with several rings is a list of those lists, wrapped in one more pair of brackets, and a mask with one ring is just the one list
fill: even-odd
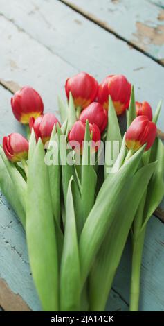
[(82, 122), (88, 120), (89, 123), (95, 123), (100, 129), (100, 132), (103, 132), (107, 127), (107, 110), (104, 110), (100, 103), (93, 102), (82, 111), (79, 119)]

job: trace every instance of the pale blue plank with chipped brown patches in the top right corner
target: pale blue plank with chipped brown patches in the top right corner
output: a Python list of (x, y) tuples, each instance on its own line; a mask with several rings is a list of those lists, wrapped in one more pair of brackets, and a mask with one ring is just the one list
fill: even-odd
[(164, 65), (164, 6), (160, 1), (61, 1)]

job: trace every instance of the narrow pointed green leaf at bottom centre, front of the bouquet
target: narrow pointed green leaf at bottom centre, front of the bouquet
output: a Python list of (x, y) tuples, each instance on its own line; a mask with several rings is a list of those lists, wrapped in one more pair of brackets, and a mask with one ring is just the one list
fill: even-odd
[(60, 309), (61, 311), (79, 311), (80, 309), (80, 261), (78, 239), (71, 191), (71, 178), (66, 198), (66, 225), (64, 248), (60, 273)]

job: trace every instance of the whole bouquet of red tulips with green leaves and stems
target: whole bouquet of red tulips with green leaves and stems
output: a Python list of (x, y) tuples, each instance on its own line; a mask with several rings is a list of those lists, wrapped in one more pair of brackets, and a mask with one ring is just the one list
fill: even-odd
[(130, 310), (137, 311), (145, 230), (164, 194), (161, 103), (152, 116), (122, 75), (98, 85), (80, 73), (65, 89), (60, 122), (44, 114), (33, 88), (12, 97), (13, 114), (30, 132), (3, 137), (1, 191), (26, 232), (44, 311), (104, 311), (129, 232)]

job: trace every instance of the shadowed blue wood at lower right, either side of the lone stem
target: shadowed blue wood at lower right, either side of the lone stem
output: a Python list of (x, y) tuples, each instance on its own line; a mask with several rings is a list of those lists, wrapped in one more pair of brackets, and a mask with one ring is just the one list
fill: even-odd
[[(140, 311), (164, 311), (163, 291), (163, 255), (164, 255), (164, 225), (156, 218), (151, 218), (147, 225), (143, 262), (141, 267)], [(115, 282), (116, 291), (123, 293), (123, 298), (129, 302), (131, 246), (127, 243), (122, 256)]]

